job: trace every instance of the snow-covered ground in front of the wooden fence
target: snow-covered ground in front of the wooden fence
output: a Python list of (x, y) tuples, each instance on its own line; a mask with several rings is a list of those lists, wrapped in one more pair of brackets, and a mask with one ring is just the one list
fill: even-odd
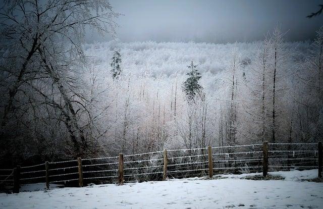
[[(213, 180), (52, 188), (0, 194), (0, 208), (323, 208), (323, 183), (303, 181), (315, 178), (317, 170), (270, 174), (286, 179), (254, 181), (241, 178), (261, 174), (242, 174)], [(22, 190), (42, 187), (25, 186)]]

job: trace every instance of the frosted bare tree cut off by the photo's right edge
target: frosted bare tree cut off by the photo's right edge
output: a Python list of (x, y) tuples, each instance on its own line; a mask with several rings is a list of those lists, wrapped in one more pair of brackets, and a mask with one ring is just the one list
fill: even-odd
[(315, 141), (323, 136), (323, 27), (317, 31), (310, 55), (300, 64), (298, 129), (300, 138)]

